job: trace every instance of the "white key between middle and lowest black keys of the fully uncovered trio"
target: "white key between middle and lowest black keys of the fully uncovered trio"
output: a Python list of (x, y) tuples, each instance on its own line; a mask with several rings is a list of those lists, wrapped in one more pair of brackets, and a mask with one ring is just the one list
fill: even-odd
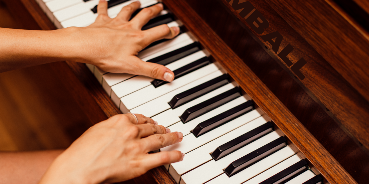
[(170, 129), (170, 131), (172, 132), (182, 132), (183, 135), (187, 135), (190, 134), (190, 131), (193, 130), (196, 125), (198, 125), (199, 123), (208, 120), (220, 113), (223, 113), (227, 110), (232, 109), (235, 106), (241, 105), (242, 103), (245, 103), (247, 101), (245, 96), (240, 96), (214, 110), (211, 110), (210, 112), (203, 114), (197, 118), (194, 118), (193, 120), (187, 122), (187, 123), (182, 123), (182, 121), (179, 121), (176, 124), (173, 124), (172, 126), (168, 127)]

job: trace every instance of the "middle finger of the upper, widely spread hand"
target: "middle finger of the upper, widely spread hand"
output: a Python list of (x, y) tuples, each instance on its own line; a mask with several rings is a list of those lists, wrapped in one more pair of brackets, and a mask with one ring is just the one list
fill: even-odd
[(158, 15), (163, 10), (163, 4), (159, 3), (154, 6), (142, 9), (134, 18), (131, 23), (141, 29), (149, 20)]

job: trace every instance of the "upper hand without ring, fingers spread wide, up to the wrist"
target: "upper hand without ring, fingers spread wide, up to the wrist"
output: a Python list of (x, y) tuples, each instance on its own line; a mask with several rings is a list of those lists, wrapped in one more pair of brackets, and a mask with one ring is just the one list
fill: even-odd
[(141, 31), (142, 26), (163, 10), (163, 5), (144, 8), (128, 21), (140, 6), (139, 1), (131, 3), (123, 7), (117, 17), (109, 18), (107, 1), (100, 0), (96, 21), (77, 31), (84, 50), (80, 52), (82, 54), (77, 61), (93, 64), (107, 72), (145, 75), (172, 81), (172, 71), (156, 63), (144, 62), (137, 54), (156, 40), (174, 38), (180, 30), (178, 27), (160, 25)]

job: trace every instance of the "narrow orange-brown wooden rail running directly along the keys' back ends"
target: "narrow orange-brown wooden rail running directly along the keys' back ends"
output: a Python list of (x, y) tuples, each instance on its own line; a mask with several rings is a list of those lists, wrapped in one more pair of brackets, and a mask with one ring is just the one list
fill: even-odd
[[(186, 2), (163, 1), (330, 183), (356, 183)], [(191, 15), (191, 16), (189, 16)], [(237, 66), (237, 67), (236, 67)], [(247, 84), (247, 85), (246, 85)], [(256, 87), (257, 86), (257, 87)], [(306, 141), (308, 140), (308, 141)]]

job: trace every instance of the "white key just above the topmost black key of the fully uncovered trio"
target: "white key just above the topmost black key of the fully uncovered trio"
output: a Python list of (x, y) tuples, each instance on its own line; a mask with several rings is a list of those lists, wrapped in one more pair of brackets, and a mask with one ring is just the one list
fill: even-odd
[[(193, 81), (187, 85), (184, 85), (172, 92), (166, 93), (165, 95), (156, 98), (154, 100), (151, 100), (150, 102), (144, 103), (141, 106), (138, 106), (131, 110), (131, 113), (138, 113), (138, 114), (145, 114), (147, 117), (154, 116), (155, 114), (158, 114), (160, 112), (163, 112), (170, 108), (168, 102), (170, 99), (173, 98), (178, 93), (181, 93), (183, 91), (186, 91), (188, 89), (191, 89), (197, 85), (203, 84), (204, 82), (210, 81), (211, 79), (217, 78), (219, 76), (223, 75), (223, 72), (218, 70), (216, 72), (211, 73), (210, 75), (206, 75), (203, 78), (200, 78), (199, 80)], [(155, 108), (152, 108), (155, 107)], [(159, 121), (158, 121), (159, 122)], [(159, 124), (162, 125), (161, 122)]]

